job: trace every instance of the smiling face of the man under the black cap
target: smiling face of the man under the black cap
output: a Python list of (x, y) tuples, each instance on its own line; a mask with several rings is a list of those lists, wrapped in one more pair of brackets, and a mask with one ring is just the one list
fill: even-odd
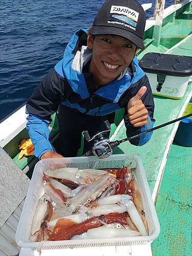
[(88, 47), (92, 49), (90, 72), (96, 86), (115, 80), (134, 59), (138, 50), (133, 42), (115, 35), (88, 36)]

